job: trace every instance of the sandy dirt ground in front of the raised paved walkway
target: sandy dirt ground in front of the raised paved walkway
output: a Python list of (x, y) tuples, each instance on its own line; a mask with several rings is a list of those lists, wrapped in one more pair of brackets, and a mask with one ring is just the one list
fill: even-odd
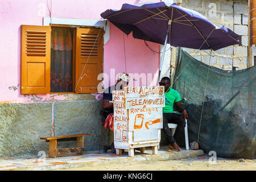
[(209, 163), (209, 156), (199, 156), (180, 160), (162, 160), (146, 162), (129, 162), (126, 165), (111, 164), (108, 166), (94, 166), (69, 168), (69, 171), (256, 171), (256, 160), (217, 158), (216, 164)]

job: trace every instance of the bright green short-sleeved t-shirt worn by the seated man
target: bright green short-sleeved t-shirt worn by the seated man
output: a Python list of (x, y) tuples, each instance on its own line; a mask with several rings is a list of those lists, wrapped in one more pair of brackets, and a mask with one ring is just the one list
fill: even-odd
[(163, 113), (173, 113), (174, 112), (174, 102), (181, 101), (180, 94), (174, 89), (171, 89), (165, 94), (166, 106), (163, 107)]

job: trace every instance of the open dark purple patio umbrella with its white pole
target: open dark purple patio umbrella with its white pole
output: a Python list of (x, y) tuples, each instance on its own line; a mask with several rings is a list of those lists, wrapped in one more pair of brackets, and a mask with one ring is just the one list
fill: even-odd
[[(106, 10), (108, 19), (125, 34), (150, 42), (194, 49), (217, 49), (238, 44), (241, 38), (229, 28), (217, 27), (197, 11), (173, 3), (150, 3), (142, 6), (123, 4), (121, 10)], [(160, 62), (162, 69), (164, 53)]]

